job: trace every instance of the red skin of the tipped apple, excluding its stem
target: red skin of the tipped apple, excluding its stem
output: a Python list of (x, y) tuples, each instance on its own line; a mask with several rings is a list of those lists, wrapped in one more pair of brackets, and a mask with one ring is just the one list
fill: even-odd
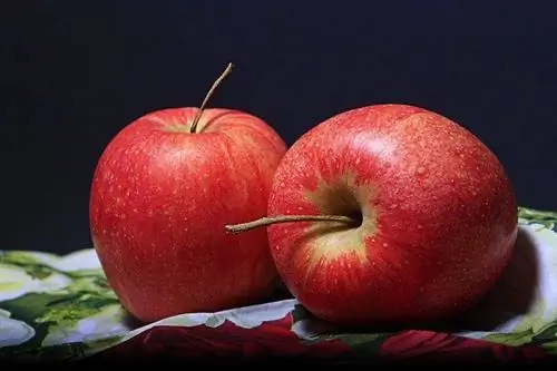
[(304, 134), (275, 173), (268, 216), (348, 215), (361, 225), (268, 226), (277, 271), (315, 316), (344, 325), (462, 314), (509, 263), (515, 193), (498, 158), (436, 113), (373, 105)]

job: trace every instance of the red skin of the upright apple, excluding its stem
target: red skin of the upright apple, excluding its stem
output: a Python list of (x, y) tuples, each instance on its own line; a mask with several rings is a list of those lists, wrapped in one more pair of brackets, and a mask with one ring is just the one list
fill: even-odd
[[(264, 299), (276, 270), (266, 231), (225, 224), (266, 214), (286, 152), (262, 119), (231, 109), (145, 115), (105, 148), (90, 191), (90, 230), (110, 286), (143, 322)], [(201, 133), (199, 133), (201, 131)]]

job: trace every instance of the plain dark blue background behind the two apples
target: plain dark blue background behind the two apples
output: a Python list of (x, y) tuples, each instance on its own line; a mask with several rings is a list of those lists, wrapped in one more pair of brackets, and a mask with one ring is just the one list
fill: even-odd
[(557, 209), (551, 1), (2, 1), (2, 246), (89, 247), (88, 196), (138, 116), (212, 106), (292, 144), (358, 106), (405, 102), (471, 129), (522, 205)]

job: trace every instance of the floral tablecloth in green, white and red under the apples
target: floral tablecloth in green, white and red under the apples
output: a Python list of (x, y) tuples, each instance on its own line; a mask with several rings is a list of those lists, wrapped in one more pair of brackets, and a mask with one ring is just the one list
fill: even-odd
[(0, 251), (0, 360), (546, 360), (557, 354), (557, 213), (519, 212), (514, 261), (500, 282), (458, 324), (439, 329), (342, 331), (280, 290), (258, 305), (143, 325), (118, 303), (92, 248)]

